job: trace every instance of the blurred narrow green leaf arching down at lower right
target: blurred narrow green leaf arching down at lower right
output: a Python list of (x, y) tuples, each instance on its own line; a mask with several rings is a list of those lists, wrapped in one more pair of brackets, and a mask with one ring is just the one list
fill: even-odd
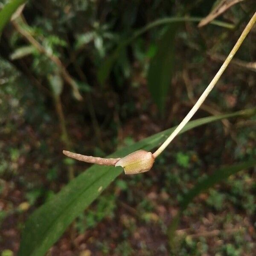
[(239, 163), (232, 166), (226, 166), (218, 171), (214, 172), (212, 175), (204, 177), (201, 181), (199, 181), (192, 189), (190, 189), (183, 197), (180, 202), (180, 211), (173, 218), (172, 223), (168, 227), (168, 236), (169, 236), (169, 244), (170, 246), (174, 246), (175, 239), (175, 230), (177, 229), (180, 217), (183, 211), (188, 207), (188, 205), (192, 202), (192, 200), (199, 195), (201, 192), (209, 189), (215, 184), (226, 180), (230, 175), (236, 174), (237, 172), (251, 168), (256, 165), (256, 159), (249, 160), (247, 162)]

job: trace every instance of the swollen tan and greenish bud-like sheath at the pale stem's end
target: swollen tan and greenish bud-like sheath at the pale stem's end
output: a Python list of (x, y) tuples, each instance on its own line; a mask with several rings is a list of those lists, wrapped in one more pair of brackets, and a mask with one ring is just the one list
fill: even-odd
[(115, 166), (122, 166), (125, 174), (137, 174), (148, 172), (154, 163), (154, 157), (151, 152), (143, 149), (137, 150), (126, 157), (121, 158)]

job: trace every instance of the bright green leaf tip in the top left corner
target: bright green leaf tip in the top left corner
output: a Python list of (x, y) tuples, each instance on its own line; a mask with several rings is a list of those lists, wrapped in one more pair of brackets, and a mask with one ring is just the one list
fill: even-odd
[(0, 11), (0, 35), (2, 30), (7, 22), (11, 19), (12, 15), (21, 6), (25, 3), (26, 0), (12, 0), (10, 3), (7, 3), (3, 9)]

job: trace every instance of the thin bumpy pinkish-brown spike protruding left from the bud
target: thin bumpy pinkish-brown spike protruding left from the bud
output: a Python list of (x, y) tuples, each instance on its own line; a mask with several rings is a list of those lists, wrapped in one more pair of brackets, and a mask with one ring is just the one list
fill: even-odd
[(67, 150), (63, 150), (63, 154), (66, 155), (67, 157), (71, 157), (86, 163), (96, 163), (96, 164), (107, 165), (107, 166), (115, 166), (116, 163), (121, 159), (121, 158), (102, 158), (102, 157), (85, 156), (85, 155), (76, 154)]

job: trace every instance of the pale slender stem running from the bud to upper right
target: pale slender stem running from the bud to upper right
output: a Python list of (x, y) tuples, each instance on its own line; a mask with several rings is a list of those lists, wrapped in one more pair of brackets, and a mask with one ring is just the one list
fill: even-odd
[(198, 111), (204, 100), (209, 95), (212, 88), (215, 86), (215, 84), (220, 79), (222, 73), (227, 68), (228, 64), (232, 60), (233, 56), (236, 54), (237, 50), (241, 46), (242, 42), (244, 41), (244, 38), (247, 36), (247, 34), (252, 29), (254, 23), (256, 22), (256, 12), (254, 13), (253, 17), (250, 19), (249, 23), (245, 27), (244, 31), (241, 33), (238, 41), (236, 42), (235, 46), (231, 50), (230, 54), (227, 56), (226, 60), (212, 79), (212, 81), (209, 83), (207, 88), (204, 90), (198, 101), (195, 103), (193, 108), (189, 111), (189, 113), (185, 116), (185, 118), (180, 122), (180, 124), (177, 126), (177, 128), (172, 132), (172, 134), (166, 139), (166, 141), (157, 149), (157, 151), (154, 152), (153, 157), (158, 157), (163, 150), (172, 142), (172, 140), (177, 136), (177, 134), (182, 130), (182, 128), (186, 125), (187, 122), (194, 116), (195, 112)]

